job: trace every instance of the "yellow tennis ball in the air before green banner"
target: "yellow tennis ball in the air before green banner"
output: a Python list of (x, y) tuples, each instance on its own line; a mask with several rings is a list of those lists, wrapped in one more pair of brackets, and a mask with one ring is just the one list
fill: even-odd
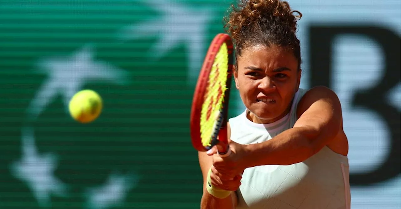
[(81, 90), (70, 100), (71, 117), (80, 123), (89, 123), (99, 117), (103, 107), (101, 97), (93, 90)]

